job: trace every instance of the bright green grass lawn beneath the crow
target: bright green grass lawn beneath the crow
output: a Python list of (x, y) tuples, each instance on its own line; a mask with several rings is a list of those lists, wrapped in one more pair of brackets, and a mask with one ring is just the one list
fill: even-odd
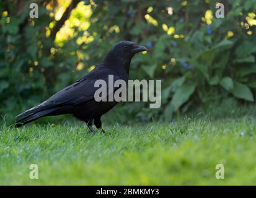
[(82, 123), (3, 124), (0, 184), (256, 184), (254, 116), (106, 125), (93, 136)]

